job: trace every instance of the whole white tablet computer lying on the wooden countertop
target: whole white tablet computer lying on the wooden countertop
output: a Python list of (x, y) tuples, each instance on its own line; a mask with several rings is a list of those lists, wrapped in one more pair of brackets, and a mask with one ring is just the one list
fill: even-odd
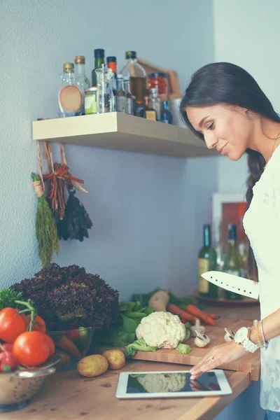
[(204, 372), (195, 381), (189, 370), (165, 372), (122, 372), (118, 379), (117, 398), (209, 397), (232, 393), (223, 370)]

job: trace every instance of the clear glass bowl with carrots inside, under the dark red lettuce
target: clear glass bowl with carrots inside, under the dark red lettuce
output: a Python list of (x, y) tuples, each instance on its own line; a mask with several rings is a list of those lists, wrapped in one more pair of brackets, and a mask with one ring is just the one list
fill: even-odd
[(60, 356), (57, 370), (75, 369), (78, 361), (87, 356), (92, 341), (92, 328), (73, 328), (66, 331), (48, 331), (55, 342), (55, 353)]

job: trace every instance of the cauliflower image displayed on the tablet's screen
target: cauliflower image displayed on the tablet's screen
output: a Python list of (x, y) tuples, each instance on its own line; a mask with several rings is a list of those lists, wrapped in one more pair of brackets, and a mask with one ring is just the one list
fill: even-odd
[(146, 391), (178, 392), (187, 384), (185, 373), (147, 374), (137, 378)]

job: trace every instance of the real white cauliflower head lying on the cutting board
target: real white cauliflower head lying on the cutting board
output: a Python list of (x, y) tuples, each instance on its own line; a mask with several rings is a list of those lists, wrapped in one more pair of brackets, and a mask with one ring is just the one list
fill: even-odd
[(144, 338), (148, 346), (176, 349), (186, 339), (186, 328), (179, 316), (158, 311), (141, 319), (136, 335), (137, 338)]

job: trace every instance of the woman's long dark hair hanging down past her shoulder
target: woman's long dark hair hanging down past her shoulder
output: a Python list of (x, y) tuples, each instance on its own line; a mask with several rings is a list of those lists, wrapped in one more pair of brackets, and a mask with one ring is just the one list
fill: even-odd
[[(197, 132), (191, 125), (186, 106), (216, 104), (240, 106), (257, 113), (260, 117), (280, 123), (280, 117), (255, 79), (235, 64), (224, 62), (207, 64), (197, 70), (190, 80), (190, 85), (181, 101), (180, 112), (186, 125), (200, 139), (204, 139), (203, 134)], [(253, 186), (260, 179), (265, 167), (265, 159), (260, 153), (251, 149), (247, 149), (246, 153), (248, 154), (248, 168), (251, 172), (246, 192), (246, 210), (248, 210), (253, 198)], [(248, 278), (258, 281), (258, 267), (251, 246), (248, 253)]]

